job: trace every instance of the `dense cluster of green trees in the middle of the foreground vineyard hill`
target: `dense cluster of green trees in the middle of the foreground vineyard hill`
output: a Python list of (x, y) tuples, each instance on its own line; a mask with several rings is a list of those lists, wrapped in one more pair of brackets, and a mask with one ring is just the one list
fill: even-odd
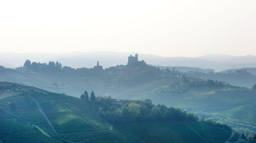
[(125, 104), (114, 104), (110, 96), (97, 97), (99, 114), (113, 123), (197, 120), (193, 113), (164, 105), (153, 105), (150, 99)]

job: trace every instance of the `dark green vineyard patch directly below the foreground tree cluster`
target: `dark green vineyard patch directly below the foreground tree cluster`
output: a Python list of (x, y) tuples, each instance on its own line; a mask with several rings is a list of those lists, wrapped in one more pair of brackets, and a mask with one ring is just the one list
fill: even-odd
[(143, 122), (121, 127), (145, 142), (221, 143), (231, 135), (230, 131), (221, 131), (202, 122)]

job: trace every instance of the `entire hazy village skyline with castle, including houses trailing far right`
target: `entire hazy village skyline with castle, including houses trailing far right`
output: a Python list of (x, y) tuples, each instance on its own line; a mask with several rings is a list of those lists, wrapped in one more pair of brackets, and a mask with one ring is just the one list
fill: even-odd
[[(0, 70), (5, 69), (5, 67), (0, 66)], [(77, 74), (83, 76), (120, 76), (120, 75), (138, 75), (137, 78), (182, 78), (184, 75), (185, 78), (188, 77), (197, 77), (197, 76), (248, 76), (251, 75), (246, 70), (237, 70), (237, 71), (226, 71), (226, 72), (197, 72), (197, 71), (188, 71), (187, 73), (182, 73), (173, 67), (172, 69), (159, 69), (159, 67), (148, 65), (144, 60), (138, 60), (138, 54), (135, 56), (128, 56), (127, 65), (117, 65), (103, 69), (100, 62), (97, 61), (94, 67), (91, 68), (72, 68), (68, 66), (62, 67), (60, 62), (50, 61), (48, 65), (46, 63), (32, 62), (26, 60), (23, 67), (17, 67), (16, 70), (21, 72), (26, 72), (27, 74), (36, 74), (36, 73), (63, 73), (63, 74)]]

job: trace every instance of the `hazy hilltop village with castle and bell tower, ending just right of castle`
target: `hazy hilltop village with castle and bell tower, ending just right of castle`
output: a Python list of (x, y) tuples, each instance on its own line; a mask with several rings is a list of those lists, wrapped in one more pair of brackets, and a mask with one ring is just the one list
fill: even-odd
[[(148, 65), (144, 60), (139, 61), (138, 60), (138, 54), (135, 54), (135, 56), (130, 55), (128, 56), (128, 63), (127, 65), (117, 65), (113, 67), (109, 67), (106, 69), (103, 69), (102, 65), (100, 65), (100, 62), (97, 61), (97, 65), (95, 64), (94, 67), (91, 68), (72, 68), (68, 66), (62, 67), (62, 64), (58, 61), (55, 63), (53, 61), (50, 61), (48, 65), (46, 63), (40, 63), (40, 62), (32, 62), (30, 60), (26, 60), (23, 67), (17, 67), (16, 70), (35, 74), (38, 72), (64, 72), (66, 74), (84, 74), (84, 75), (121, 75), (121, 74), (129, 74), (134, 73), (136, 71), (150, 71), (152, 74), (157, 74), (157, 76), (176, 76), (180, 77), (180, 73), (178, 71), (175, 71), (175, 69), (169, 70), (169, 69), (159, 69)], [(161, 74), (160, 74), (161, 73)]]

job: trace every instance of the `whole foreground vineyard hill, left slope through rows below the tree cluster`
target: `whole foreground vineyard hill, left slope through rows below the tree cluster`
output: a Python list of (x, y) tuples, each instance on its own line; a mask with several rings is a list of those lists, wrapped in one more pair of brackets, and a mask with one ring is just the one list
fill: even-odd
[(16, 83), (0, 83), (0, 141), (215, 143), (224, 142), (231, 135), (230, 131), (197, 121), (111, 125), (98, 111), (90, 101)]

